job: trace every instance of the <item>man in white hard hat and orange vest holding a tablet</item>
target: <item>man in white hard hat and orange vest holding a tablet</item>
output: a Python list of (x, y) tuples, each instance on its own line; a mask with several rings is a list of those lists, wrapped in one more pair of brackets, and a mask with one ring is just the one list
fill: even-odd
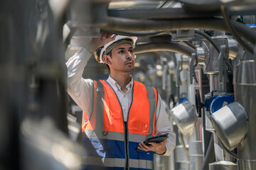
[[(136, 40), (102, 32), (66, 63), (68, 94), (83, 111), (83, 169), (154, 169), (154, 153), (168, 156), (176, 145), (156, 89), (134, 81), (130, 75)], [(109, 67), (107, 80), (82, 78), (92, 54)], [(168, 137), (144, 144), (159, 134)]]

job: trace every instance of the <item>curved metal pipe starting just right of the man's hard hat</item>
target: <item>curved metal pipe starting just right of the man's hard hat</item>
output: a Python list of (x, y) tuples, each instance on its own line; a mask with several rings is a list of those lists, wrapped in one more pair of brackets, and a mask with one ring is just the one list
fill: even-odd
[(143, 44), (143, 45), (136, 45), (134, 48), (134, 53), (144, 53), (144, 52), (156, 52), (156, 51), (171, 51), (171, 52), (178, 52), (182, 55), (186, 55), (188, 57), (191, 57), (191, 54), (195, 52), (195, 50), (192, 50), (190, 47), (187, 47), (185, 45), (180, 45), (176, 42), (154, 42), (149, 44)]

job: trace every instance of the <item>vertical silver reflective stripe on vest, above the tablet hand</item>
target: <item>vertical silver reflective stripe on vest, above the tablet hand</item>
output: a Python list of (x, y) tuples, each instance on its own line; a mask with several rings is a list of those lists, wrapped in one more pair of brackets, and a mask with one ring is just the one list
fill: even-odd
[(156, 107), (156, 96), (154, 93), (154, 89), (150, 86), (146, 86), (147, 96), (149, 98), (149, 136), (153, 134), (154, 127), (154, 115), (155, 115), (155, 107)]

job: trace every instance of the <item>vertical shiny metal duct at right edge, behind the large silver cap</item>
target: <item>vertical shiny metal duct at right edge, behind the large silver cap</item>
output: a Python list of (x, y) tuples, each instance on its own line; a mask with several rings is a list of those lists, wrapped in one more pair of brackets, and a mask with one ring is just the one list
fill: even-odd
[(235, 101), (240, 103), (248, 114), (249, 125), (245, 140), (238, 147), (238, 169), (256, 169), (256, 62), (247, 60), (240, 62), (234, 69), (233, 84)]

